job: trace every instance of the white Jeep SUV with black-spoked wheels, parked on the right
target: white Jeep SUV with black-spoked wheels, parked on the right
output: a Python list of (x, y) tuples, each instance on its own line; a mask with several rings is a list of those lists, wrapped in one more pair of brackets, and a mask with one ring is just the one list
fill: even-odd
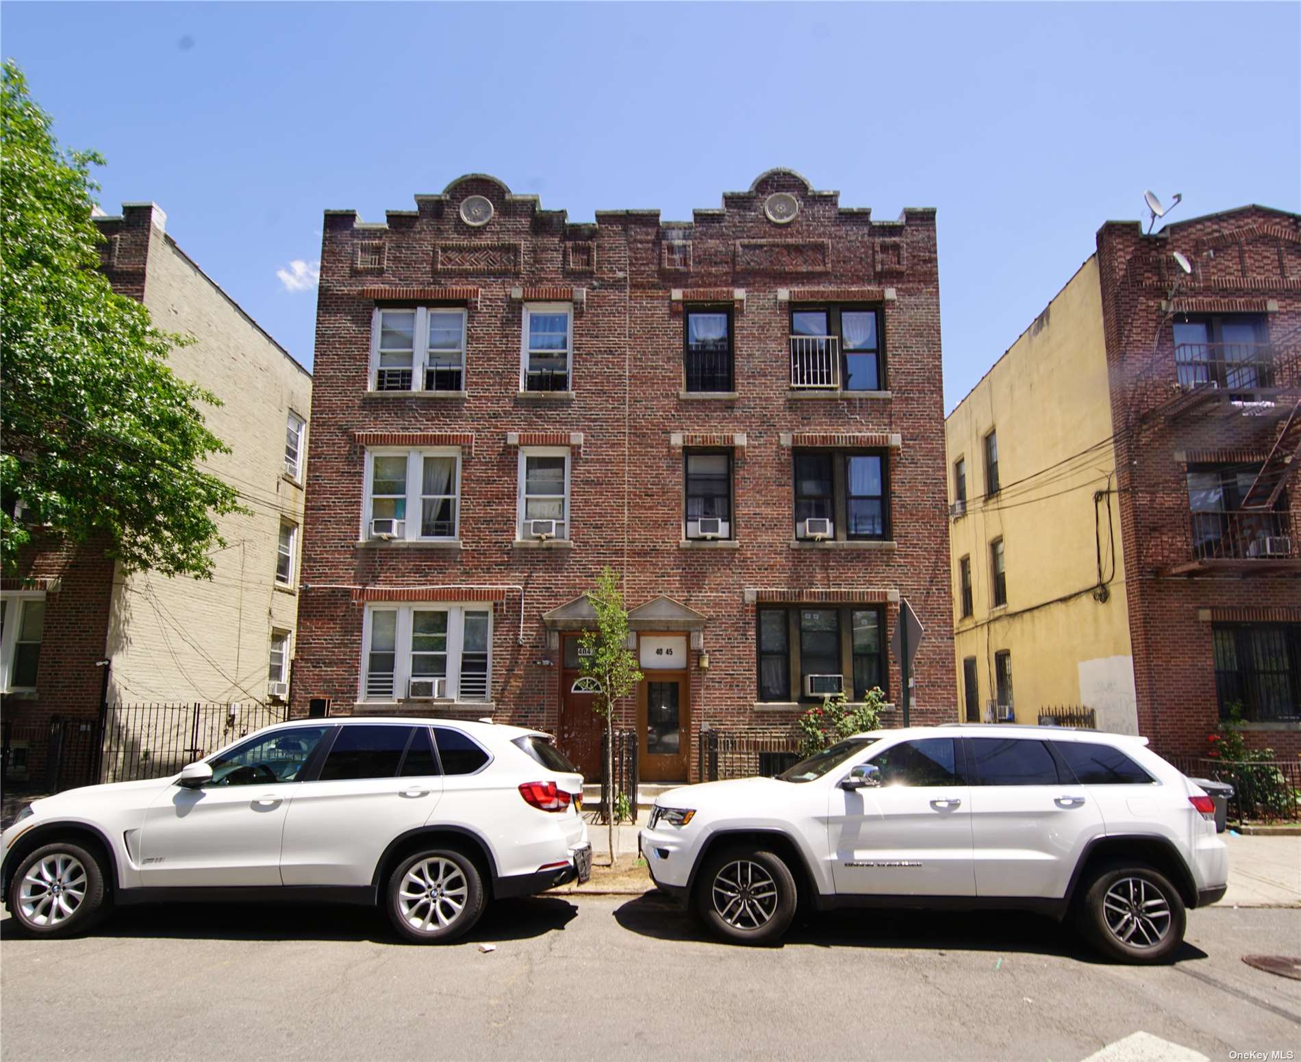
[(1037, 726), (859, 734), (775, 778), (662, 794), (640, 849), (722, 937), (768, 944), (796, 903), (1072, 914), (1159, 962), (1224, 895), (1211, 799), (1146, 738)]

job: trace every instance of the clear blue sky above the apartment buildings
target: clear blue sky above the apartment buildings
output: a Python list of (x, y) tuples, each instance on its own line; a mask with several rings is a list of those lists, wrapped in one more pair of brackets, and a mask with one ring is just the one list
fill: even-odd
[(946, 409), (1144, 189), (1184, 194), (1172, 220), (1301, 210), (1298, 4), (5, 3), (3, 29), (60, 141), (107, 156), (105, 210), (157, 202), (308, 366), (321, 211), (474, 170), (575, 221), (690, 219), (778, 165), (938, 207)]

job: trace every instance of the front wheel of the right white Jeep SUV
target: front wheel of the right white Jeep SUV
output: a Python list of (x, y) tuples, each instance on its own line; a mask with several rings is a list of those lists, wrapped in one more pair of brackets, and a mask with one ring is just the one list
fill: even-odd
[(774, 944), (795, 918), (799, 892), (775, 852), (735, 847), (712, 855), (700, 869), (696, 914), (732, 944)]

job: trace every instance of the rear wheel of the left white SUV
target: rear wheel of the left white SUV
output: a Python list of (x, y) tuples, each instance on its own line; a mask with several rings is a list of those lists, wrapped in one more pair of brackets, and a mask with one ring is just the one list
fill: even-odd
[(455, 849), (406, 856), (389, 875), (385, 897), (393, 928), (415, 944), (449, 944), (484, 912), (479, 868)]

